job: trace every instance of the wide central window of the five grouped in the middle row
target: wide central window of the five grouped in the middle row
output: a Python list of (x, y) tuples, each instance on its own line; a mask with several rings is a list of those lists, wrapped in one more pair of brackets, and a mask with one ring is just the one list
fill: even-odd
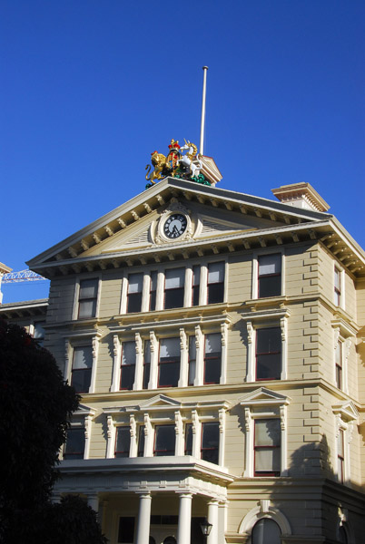
[(177, 387), (180, 377), (180, 338), (163, 338), (160, 341), (158, 386)]

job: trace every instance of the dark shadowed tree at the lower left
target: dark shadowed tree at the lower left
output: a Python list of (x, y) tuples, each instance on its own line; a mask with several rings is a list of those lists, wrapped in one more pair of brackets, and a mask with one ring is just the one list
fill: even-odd
[[(103, 544), (96, 520), (95, 539), (90, 535), (81, 539), (84, 520), (94, 516), (83, 500), (73, 497), (58, 505), (50, 502), (54, 481), (59, 477), (58, 452), (65, 441), (71, 414), (78, 405), (79, 397), (74, 388), (64, 382), (54, 356), (40, 347), (24, 328), (1, 319), (1, 544), (22, 544), (23, 541), (27, 544), (45, 541)], [(72, 508), (74, 517), (70, 514)], [(54, 534), (57, 523), (65, 539), (45, 540), (47, 529)], [(80, 539), (73, 540), (70, 534), (75, 525), (79, 527)]]

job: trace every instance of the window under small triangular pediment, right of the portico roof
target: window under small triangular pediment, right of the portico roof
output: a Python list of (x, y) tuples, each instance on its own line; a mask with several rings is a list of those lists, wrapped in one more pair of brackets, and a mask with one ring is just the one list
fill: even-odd
[(280, 476), (281, 426), (279, 419), (255, 420), (255, 476)]

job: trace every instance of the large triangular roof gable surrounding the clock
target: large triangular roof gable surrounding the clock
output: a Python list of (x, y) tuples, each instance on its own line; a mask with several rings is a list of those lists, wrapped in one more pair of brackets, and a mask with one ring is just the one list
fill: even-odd
[[(187, 226), (175, 237), (165, 236), (164, 228), (174, 212), (186, 219)], [(160, 262), (161, 257), (156, 256), (163, 252), (173, 260), (172, 251), (186, 258), (191, 252), (203, 256), (205, 252), (266, 247), (265, 237), (271, 237), (269, 245), (276, 246), (283, 243), (283, 235), (289, 241), (300, 240), (297, 231), (315, 239), (312, 228), (320, 223), (324, 228), (328, 224), (324, 216), (269, 199), (166, 178), (28, 264), (52, 277), (125, 263), (132, 266), (148, 259)]]

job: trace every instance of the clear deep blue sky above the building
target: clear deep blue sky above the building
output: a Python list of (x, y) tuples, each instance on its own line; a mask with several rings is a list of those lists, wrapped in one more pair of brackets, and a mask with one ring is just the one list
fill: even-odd
[[(365, 247), (363, 0), (2, 0), (0, 262), (14, 270), (199, 143), (219, 187), (307, 181)], [(3, 302), (48, 282), (3, 286)]]

